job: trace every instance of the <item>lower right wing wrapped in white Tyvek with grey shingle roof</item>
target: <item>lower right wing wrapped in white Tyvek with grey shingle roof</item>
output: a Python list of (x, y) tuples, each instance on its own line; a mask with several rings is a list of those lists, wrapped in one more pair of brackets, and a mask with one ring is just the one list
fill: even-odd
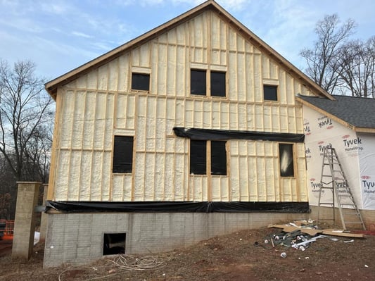
[[(333, 96), (296, 97), (303, 104), (307, 189), (312, 212), (318, 205), (325, 146), (336, 149), (351, 192), (367, 225), (375, 214), (375, 99)], [(322, 201), (332, 201), (332, 193), (322, 193)], [(337, 202), (336, 202), (337, 205)], [(326, 216), (332, 217), (331, 210)]]

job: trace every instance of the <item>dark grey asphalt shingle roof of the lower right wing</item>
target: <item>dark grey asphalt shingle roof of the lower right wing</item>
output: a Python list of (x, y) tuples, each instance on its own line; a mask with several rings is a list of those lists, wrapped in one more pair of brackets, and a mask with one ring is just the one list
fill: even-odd
[(375, 99), (332, 95), (336, 101), (298, 95), (303, 101), (330, 113), (355, 127), (375, 128)]

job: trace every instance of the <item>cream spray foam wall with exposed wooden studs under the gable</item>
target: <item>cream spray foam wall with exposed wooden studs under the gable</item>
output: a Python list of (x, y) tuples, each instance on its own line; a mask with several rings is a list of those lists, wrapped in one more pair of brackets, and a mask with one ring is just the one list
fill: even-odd
[[(227, 73), (227, 97), (191, 96), (191, 68)], [(132, 91), (133, 72), (150, 74)], [(173, 127), (303, 133), (299, 80), (207, 11), (58, 89), (50, 200), (307, 201), (303, 144), (295, 177), (277, 142), (230, 140), (225, 176), (189, 175), (189, 139)], [(263, 101), (264, 84), (277, 102)], [(133, 173), (112, 173), (115, 135), (134, 136)]]

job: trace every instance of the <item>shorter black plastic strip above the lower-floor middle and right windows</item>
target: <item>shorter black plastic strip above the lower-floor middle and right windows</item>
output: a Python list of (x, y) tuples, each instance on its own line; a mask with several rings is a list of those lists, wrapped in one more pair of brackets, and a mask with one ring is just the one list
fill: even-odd
[(193, 140), (229, 140), (229, 139), (249, 139), (265, 140), (271, 142), (303, 142), (305, 135), (291, 134), (284, 132), (254, 132), (236, 130), (211, 130), (185, 127), (174, 127), (174, 134), (177, 137), (187, 137)]

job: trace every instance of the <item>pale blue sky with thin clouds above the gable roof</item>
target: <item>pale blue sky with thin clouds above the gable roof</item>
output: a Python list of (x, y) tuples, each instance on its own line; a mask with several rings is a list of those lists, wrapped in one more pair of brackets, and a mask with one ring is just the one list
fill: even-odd
[[(52, 80), (203, 3), (199, 0), (0, 0), (0, 58), (36, 63)], [(357, 23), (355, 39), (375, 35), (373, 0), (217, 0), (296, 67), (324, 15)]]

